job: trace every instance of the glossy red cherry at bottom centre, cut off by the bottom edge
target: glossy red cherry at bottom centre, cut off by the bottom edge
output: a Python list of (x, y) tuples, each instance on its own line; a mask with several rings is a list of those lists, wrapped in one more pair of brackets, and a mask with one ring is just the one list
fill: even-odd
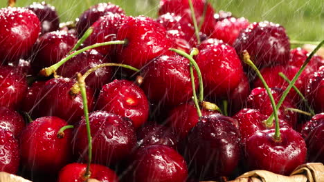
[(186, 161), (166, 145), (149, 145), (138, 150), (129, 173), (133, 182), (184, 182), (188, 177)]

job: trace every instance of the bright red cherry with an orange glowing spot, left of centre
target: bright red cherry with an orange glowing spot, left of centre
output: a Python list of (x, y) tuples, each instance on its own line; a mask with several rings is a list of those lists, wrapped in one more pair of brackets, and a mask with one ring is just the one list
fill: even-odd
[(128, 117), (134, 128), (147, 121), (149, 103), (141, 88), (127, 80), (115, 80), (102, 87), (98, 97), (98, 110)]

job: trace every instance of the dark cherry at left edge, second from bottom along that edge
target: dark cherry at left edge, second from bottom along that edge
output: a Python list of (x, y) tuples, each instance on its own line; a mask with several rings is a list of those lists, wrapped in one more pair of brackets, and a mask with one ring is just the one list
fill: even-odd
[(25, 121), (18, 112), (0, 107), (0, 130), (8, 130), (16, 137), (25, 127)]

